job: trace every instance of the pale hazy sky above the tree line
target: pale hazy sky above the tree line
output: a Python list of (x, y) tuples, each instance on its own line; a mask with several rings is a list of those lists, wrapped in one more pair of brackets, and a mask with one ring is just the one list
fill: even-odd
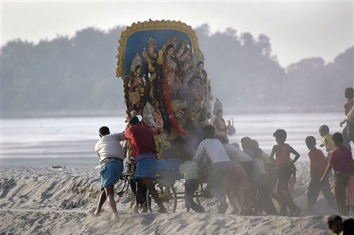
[[(37, 43), (151, 19), (208, 23), (212, 32), (232, 27), (264, 33), (283, 66), (306, 57), (326, 62), (353, 46), (353, 1), (1, 1), (1, 45), (12, 39)], [(120, 35), (117, 35), (117, 39)], [(201, 48), (203, 50), (203, 48)]]

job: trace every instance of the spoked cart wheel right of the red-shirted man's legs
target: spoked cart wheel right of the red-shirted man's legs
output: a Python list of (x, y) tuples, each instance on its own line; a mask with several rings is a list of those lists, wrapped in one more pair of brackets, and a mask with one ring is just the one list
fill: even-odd
[[(177, 195), (174, 186), (165, 180), (155, 180), (153, 182), (158, 196), (161, 198), (163, 205), (167, 209), (167, 212), (176, 212), (177, 207)], [(158, 205), (153, 200), (149, 190), (147, 190), (147, 208), (149, 212), (158, 212)]]

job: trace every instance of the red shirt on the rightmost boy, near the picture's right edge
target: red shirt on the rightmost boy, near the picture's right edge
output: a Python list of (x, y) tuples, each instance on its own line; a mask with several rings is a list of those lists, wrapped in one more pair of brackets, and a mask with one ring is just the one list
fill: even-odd
[(344, 146), (337, 147), (337, 149), (333, 150), (330, 154), (328, 164), (333, 167), (335, 172), (351, 172), (351, 164), (353, 164), (351, 151)]

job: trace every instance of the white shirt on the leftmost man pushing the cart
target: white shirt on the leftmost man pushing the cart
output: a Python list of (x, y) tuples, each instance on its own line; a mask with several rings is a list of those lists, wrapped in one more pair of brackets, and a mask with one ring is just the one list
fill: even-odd
[(120, 158), (124, 160), (124, 154), (120, 141), (126, 140), (124, 133), (115, 133), (112, 135), (104, 135), (95, 144), (95, 152), (100, 158), (100, 164), (103, 165), (106, 162), (114, 160), (114, 158)]

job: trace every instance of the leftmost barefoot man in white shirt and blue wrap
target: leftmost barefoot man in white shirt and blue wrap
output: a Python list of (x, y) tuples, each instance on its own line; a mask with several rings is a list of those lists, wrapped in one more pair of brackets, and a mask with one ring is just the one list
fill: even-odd
[(102, 205), (107, 200), (115, 220), (118, 220), (117, 207), (114, 200), (113, 187), (118, 182), (123, 172), (124, 154), (120, 141), (125, 140), (124, 133), (111, 135), (107, 126), (99, 130), (100, 140), (95, 144), (95, 152), (100, 158), (100, 186), (101, 193), (98, 200), (95, 216), (99, 216)]

